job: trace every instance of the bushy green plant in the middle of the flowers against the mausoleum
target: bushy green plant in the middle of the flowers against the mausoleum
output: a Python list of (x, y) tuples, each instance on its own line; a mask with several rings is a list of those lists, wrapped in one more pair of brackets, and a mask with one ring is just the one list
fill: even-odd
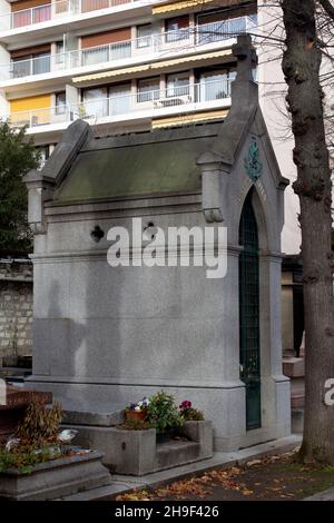
[(164, 391), (151, 396), (147, 407), (147, 422), (159, 433), (183, 425), (184, 421), (179, 415), (174, 396)]

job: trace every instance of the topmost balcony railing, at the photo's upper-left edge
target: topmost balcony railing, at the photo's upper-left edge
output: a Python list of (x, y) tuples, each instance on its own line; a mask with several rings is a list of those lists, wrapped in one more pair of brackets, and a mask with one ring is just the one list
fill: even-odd
[(59, 18), (68, 18), (101, 9), (117, 8), (118, 6), (137, 3), (151, 4), (165, 0), (56, 0), (43, 6), (10, 12), (0, 17), (0, 30), (18, 29), (22, 27), (43, 23)]

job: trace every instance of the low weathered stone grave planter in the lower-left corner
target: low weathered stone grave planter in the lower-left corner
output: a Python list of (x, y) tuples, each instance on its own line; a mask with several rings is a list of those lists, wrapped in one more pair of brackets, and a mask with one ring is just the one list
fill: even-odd
[(0, 473), (0, 499), (42, 501), (109, 485), (111, 477), (101, 464), (102, 455), (62, 457), (36, 465), (30, 474), (12, 468)]

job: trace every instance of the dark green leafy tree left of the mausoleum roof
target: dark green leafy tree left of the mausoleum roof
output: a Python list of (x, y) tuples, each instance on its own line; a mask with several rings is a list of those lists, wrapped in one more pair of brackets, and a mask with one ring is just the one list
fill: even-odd
[(32, 139), (26, 129), (0, 122), (0, 249), (27, 251), (31, 231), (27, 219), (27, 188), (22, 177), (39, 165)]

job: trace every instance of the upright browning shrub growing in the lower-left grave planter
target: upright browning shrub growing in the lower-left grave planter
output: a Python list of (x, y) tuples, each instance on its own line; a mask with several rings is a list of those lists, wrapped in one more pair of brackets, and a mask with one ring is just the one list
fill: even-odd
[(55, 403), (52, 408), (47, 408), (33, 398), (27, 407), (22, 423), (17, 427), (16, 435), (30, 445), (57, 441), (61, 415), (61, 406), (58, 403)]

